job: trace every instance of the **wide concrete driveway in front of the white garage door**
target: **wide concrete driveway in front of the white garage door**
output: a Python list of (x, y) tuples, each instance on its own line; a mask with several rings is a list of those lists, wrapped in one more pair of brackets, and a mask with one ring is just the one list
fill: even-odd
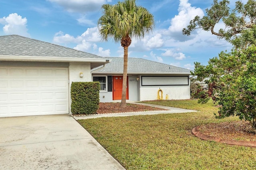
[(0, 119), (0, 169), (124, 169), (70, 115)]

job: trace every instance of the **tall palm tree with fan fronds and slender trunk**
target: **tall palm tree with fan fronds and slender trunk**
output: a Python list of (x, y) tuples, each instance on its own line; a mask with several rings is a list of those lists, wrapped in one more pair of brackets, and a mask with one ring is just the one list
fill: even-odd
[(154, 16), (146, 8), (136, 6), (136, 0), (124, 0), (115, 5), (102, 5), (103, 15), (98, 20), (102, 40), (113, 38), (124, 47), (124, 71), (122, 101), (120, 107), (126, 107), (126, 81), (128, 66), (128, 47), (131, 38), (143, 38), (154, 28)]

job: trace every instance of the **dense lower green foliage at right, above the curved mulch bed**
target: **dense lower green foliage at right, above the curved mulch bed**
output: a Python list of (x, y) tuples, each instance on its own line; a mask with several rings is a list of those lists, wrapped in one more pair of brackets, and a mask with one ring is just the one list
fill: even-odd
[(196, 63), (193, 75), (208, 77), (209, 90), (198, 93), (199, 102), (210, 98), (220, 105), (218, 118), (238, 116), (256, 129), (256, 46), (221, 52), (207, 66)]

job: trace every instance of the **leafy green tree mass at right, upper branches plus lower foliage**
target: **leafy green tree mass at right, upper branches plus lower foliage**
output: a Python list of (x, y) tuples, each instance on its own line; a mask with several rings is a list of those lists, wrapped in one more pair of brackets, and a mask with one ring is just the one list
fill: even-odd
[[(208, 65), (195, 63), (192, 75), (198, 81), (208, 84), (208, 90), (198, 90), (198, 103), (206, 103), (210, 98), (220, 105), (217, 118), (238, 116), (250, 121), (256, 133), (256, 1), (248, 0), (246, 4), (238, 1), (234, 10), (228, 7), (229, 1), (214, 0), (206, 16), (196, 16), (190, 25), (182, 30), (190, 35), (201, 28), (210, 31), (218, 38), (232, 43), (230, 53), (221, 52), (218, 57), (210, 59)], [(226, 29), (214, 31), (222, 20)]]

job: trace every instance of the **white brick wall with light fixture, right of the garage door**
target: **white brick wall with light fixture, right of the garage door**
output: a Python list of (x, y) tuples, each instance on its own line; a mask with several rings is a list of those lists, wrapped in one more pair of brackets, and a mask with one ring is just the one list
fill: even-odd
[[(80, 72), (83, 72), (84, 77), (80, 77)], [(70, 101), (70, 113), (71, 113), (71, 95), (70, 88), (72, 82), (88, 82), (92, 81), (91, 66), (90, 63), (70, 63), (68, 67), (69, 74), (69, 101)]]

